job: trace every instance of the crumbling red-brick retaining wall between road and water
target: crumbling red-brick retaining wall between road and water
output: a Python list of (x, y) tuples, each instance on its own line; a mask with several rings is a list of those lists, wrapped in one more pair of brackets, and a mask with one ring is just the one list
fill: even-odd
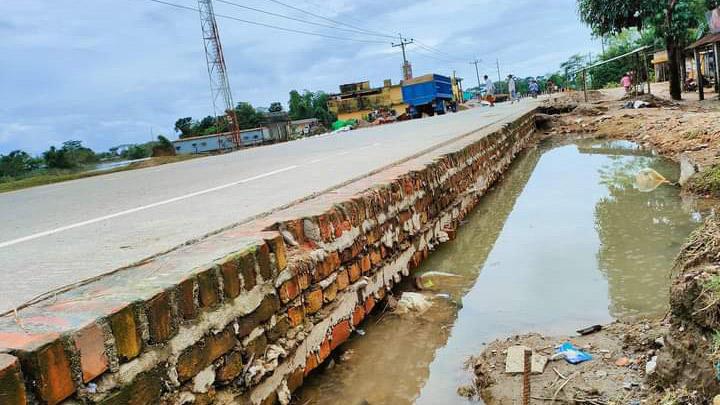
[(0, 403), (288, 403), (533, 130), (528, 113), (0, 318)]

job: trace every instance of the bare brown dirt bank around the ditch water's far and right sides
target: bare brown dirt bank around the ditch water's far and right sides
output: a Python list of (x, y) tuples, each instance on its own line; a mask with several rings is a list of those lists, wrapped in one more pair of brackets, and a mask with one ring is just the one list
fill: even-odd
[[(720, 196), (720, 112), (707, 104), (675, 103), (654, 96), (611, 99), (594, 93), (589, 103), (559, 99), (537, 122), (548, 138), (630, 140), (698, 171), (683, 191)], [(641, 103), (636, 103), (641, 101)], [(646, 104), (644, 104), (646, 103)], [(643, 108), (635, 108), (644, 104)], [(720, 222), (711, 217), (682, 247), (673, 269), (671, 312), (663, 320), (614, 323), (589, 336), (537, 334), (492, 342), (468, 360), (474, 384), (459, 389), (488, 404), (520, 403), (522, 376), (505, 371), (516, 345), (550, 357), (572, 342), (593, 356), (570, 365), (551, 361), (533, 375), (531, 403), (720, 403)], [(582, 327), (586, 325), (578, 325)]]

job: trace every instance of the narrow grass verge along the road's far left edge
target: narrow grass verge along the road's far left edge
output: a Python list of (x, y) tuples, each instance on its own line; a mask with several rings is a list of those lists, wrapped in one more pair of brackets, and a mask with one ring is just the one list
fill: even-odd
[(176, 156), (162, 156), (155, 157), (150, 160), (144, 160), (142, 162), (131, 163), (127, 166), (118, 167), (115, 169), (89, 172), (89, 171), (77, 171), (77, 172), (55, 172), (55, 173), (40, 173), (36, 175), (30, 175), (17, 180), (11, 180), (0, 183), (0, 193), (7, 193), (10, 191), (22, 190), (24, 188), (43, 186), (46, 184), (61, 183), (64, 181), (84, 179), (87, 177), (102, 176), (110, 173), (124, 172), (128, 170), (142, 169), (146, 167), (160, 166), (168, 163), (182, 162), (189, 159), (194, 159), (202, 155), (176, 155)]

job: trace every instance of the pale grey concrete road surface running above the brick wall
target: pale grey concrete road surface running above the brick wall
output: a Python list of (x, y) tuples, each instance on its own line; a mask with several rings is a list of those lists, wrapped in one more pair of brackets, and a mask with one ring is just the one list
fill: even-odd
[(326, 190), (537, 101), (0, 194), (0, 311)]

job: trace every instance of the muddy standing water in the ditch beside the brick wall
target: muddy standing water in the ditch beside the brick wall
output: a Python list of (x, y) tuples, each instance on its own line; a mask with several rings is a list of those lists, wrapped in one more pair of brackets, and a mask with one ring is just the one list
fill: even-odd
[(462, 364), (484, 342), (664, 314), (672, 259), (700, 214), (674, 186), (639, 192), (635, 174), (648, 167), (678, 177), (676, 165), (629, 143), (524, 153), (418, 269), (459, 276), (433, 280), (426, 293), (442, 295), (432, 309), (371, 316), (364, 335), (306, 379), (297, 403), (465, 403)]

